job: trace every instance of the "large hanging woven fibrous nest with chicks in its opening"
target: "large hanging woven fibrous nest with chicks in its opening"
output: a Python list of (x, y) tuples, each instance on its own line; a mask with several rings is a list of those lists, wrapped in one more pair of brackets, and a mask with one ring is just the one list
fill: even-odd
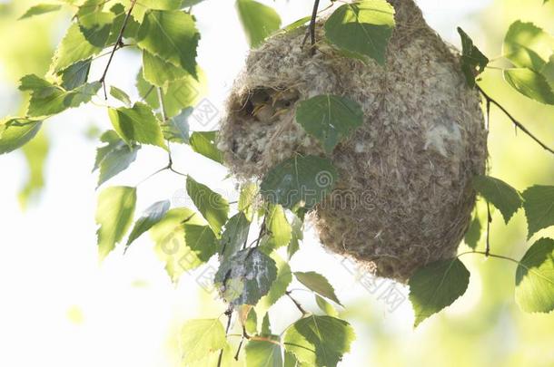
[[(345, 58), (324, 42), (302, 48), (305, 28), (279, 34), (246, 60), (222, 121), (219, 148), (239, 178), (261, 178), (295, 153), (324, 155), (295, 121), (296, 102), (331, 93), (361, 104), (364, 123), (331, 154), (340, 181), (312, 212), (323, 246), (376, 275), (405, 282), (451, 257), (469, 226), (485, 172), (487, 131), (459, 54), (412, 0), (393, 0), (387, 63)], [(318, 39), (324, 37), (322, 23)]]

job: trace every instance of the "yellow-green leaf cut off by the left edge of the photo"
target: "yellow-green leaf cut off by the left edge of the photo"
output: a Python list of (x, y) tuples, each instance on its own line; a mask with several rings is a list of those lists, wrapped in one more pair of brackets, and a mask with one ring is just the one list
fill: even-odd
[(0, 154), (23, 147), (35, 138), (43, 121), (15, 117), (0, 123)]

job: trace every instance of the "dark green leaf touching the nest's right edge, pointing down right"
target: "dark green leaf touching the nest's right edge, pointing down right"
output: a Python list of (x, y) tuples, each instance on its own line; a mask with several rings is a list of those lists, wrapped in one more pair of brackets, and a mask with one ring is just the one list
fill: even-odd
[(480, 193), (481, 197), (500, 210), (506, 224), (514, 213), (521, 208), (522, 202), (518, 190), (501, 179), (490, 176), (476, 176), (473, 178), (473, 188)]

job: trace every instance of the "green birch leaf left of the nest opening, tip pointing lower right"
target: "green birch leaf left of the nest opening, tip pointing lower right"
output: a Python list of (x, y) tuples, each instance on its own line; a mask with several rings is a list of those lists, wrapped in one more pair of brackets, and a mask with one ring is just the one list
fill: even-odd
[(108, 114), (114, 130), (127, 144), (150, 144), (167, 150), (160, 121), (144, 103), (136, 102), (132, 108), (110, 108)]

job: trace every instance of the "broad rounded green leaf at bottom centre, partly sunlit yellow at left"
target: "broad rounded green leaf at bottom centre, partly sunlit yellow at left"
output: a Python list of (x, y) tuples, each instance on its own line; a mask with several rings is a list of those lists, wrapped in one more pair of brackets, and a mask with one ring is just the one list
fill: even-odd
[(292, 324), (284, 334), (285, 350), (299, 362), (335, 367), (355, 339), (350, 324), (331, 316), (311, 315)]

